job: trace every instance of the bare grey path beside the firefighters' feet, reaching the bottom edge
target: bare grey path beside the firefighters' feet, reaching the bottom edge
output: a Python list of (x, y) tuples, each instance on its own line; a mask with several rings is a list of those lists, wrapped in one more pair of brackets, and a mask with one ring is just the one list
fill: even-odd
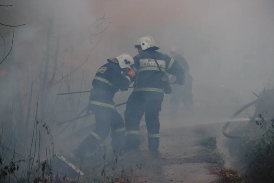
[(164, 128), (160, 132), (158, 157), (148, 153), (146, 132), (144, 132), (140, 152), (128, 153), (122, 161), (126, 162), (126, 166), (133, 167), (133, 177), (137, 182), (216, 181), (219, 177), (210, 174), (219, 161), (212, 151), (214, 143), (211, 142), (214, 140), (206, 140), (208, 146), (200, 144), (209, 137), (209, 134), (215, 135), (209, 132), (209, 129), (219, 127), (221, 125)]

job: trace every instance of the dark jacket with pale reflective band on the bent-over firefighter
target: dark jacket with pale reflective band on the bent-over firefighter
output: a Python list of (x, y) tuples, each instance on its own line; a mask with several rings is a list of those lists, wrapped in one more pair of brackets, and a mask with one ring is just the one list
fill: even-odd
[(130, 79), (121, 74), (118, 64), (108, 61), (98, 69), (92, 81), (90, 100), (114, 104), (112, 99), (119, 91), (128, 90)]

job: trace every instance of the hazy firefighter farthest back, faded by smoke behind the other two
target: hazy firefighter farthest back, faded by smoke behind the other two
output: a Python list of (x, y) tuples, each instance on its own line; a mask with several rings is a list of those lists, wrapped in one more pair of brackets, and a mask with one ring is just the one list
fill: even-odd
[[(186, 61), (186, 59), (182, 56), (182, 52), (179, 51), (178, 47), (172, 47), (170, 49), (170, 56), (172, 56), (174, 59), (176, 59), (182, 66), (184, 67), (186, 73), (186, 83), (183, 86), (176, 86), (172, 87), (172, 94), (170, 97), (170, 112), (171, 113), (177, 113), (178, 106), (180, 104), (180, 100), (182, 98), (183, 104), (187, 111), (192, 112), (193, 111), (193, 95), (192, 95), (192, 76), (190, 75), (189, 71), (189, 65)], [(172, 76), (172, 80), (175, 80), (176, 77)]]

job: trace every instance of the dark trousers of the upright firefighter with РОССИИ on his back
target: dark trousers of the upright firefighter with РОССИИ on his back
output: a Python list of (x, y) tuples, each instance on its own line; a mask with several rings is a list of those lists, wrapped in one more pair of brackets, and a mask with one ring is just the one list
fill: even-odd
[(159, 112), (162, 98), (142, 97), (143, 92), (132, 92), (128, 98), (125, 110), (126, 142), (125, 149), (135, 149), (140, 145), (140, 120), (145, 114), (148, 131), (149, 150), (158, 150), (159, 147)]

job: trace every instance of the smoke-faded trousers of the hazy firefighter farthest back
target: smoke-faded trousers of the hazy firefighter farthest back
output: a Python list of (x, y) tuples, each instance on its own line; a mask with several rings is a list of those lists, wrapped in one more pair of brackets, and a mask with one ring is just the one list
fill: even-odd
[(183, 104), (186, 110), (193, 110), (193, 95), (192, 95), (192, 82), (186, 82), (184, 85), (174, 85), (172, 86), (172, 94), (170, 97), (170, 112), (176, 113), (180, 100), (182, 98)]

